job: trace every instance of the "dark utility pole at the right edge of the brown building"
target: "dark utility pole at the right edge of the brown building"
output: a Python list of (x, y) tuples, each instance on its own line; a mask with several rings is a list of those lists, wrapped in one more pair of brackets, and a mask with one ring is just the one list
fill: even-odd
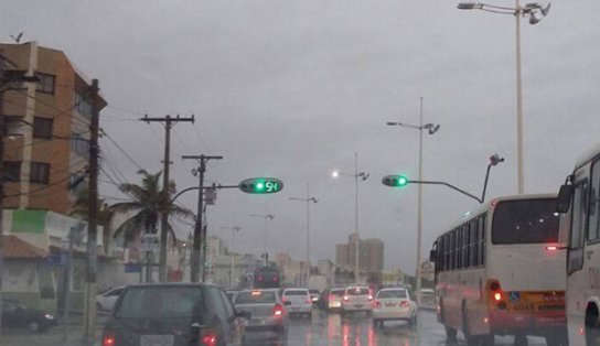
[(99, 130), (99, 102), (98, 79), (92, 80), (92, 125), (89, 126), (89, 196), (87, 220), (87, 266), (86, 266), (86, 299), (84, 318), (84, 345), (94, 342), (96, 327), (96, 274), (97, 274), (97, 226), (98, 226), (98, 130)]

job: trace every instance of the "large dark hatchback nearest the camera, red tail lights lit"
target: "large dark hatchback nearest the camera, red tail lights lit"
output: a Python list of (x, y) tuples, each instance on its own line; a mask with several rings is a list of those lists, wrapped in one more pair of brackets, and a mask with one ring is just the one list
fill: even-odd
[(225, 292), (205, 283), (126, 286), (110, 312), (101, 345), (232, 345), (244, 342), (243, 318)]

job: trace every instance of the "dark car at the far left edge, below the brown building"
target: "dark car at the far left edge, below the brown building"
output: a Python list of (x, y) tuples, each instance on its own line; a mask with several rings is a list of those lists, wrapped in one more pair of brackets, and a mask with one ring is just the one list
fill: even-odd
[(31, 333), (42, 333), (58, 325), (54, 314), (28, 307), (13, 299), (2, 299), (2, 327), (26, 328)]

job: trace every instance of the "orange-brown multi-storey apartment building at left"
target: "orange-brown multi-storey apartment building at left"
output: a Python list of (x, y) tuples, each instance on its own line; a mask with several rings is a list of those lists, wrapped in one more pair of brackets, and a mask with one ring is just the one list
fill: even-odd
[(86, 185), (92, 113), (107, 104), (61, 51), (28, 42), (0, 44), (0, 54), (4, 207), (66, 215)]

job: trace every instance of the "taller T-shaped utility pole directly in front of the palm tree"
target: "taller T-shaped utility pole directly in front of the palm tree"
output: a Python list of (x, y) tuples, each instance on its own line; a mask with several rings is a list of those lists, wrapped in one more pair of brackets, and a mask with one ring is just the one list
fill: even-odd
[(159, 260), (159, 281), (160, 282), (167, 282), (167, 235), (169, 229), (169, 209), (170, 209), (170, 201), (171, 195), (169, 192), (169, 165), (171, 164), (170, 158), (171, 158), (171, 128), (173, 127), (173, 122), (180, 122), (180, 121), (189, 121), (194, 123), (194, 116), (190, 118), (180, 118), (179, 115), (175, 118), (172, 118), (171, 116), (167, 116), (163, 118), (150, 118), (148, 115), (146, 115), (141, 121), (146, 121), (147, 123), (150, 122), (164, 122), (164, 161), (163, 161), (163, 175), (162, 175), (162, 193), (163, 196), (163, 203), (162, 206), (162, 215), (161, 215), (161, 221), (160, 221), (160, 260)]

